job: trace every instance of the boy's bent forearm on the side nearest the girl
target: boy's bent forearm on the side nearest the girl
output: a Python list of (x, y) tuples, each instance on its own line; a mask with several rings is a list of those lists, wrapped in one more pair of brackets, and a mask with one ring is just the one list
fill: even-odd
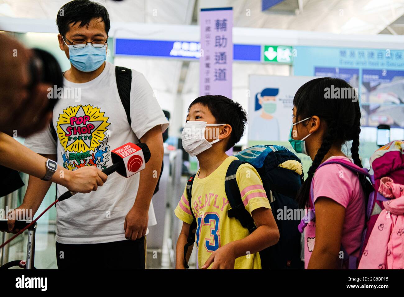
[(236, 258), (255, 254), (268, 246), (276, 244), (279, 240), (279, 232), (267, 225), (259, 226), (254, 232), (240, 240), (230, 242)]

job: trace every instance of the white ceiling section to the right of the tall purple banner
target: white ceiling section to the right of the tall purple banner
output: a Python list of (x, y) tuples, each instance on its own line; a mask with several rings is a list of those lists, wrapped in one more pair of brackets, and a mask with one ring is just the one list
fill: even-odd
[[(262, 13), (261, 1), (234, 2), (240, 3), (234, 11), (235, 25), (238, 27), (321, 31), (335, 34), (378, 34), (391, 21), (404, 14), (403, 0), (306, 0), (303, 11), (298, 15)], [(246, 16), (248, 8), (251, 9), (250, 17)]]

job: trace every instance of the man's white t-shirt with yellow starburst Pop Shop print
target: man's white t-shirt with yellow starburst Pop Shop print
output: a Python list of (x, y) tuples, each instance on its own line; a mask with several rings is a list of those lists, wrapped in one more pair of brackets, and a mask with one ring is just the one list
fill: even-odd
[[(77, 84), (64, 79), (64, 88), (75, 88), (57, 102), (53, 126), (25, 139), (25, 145), (39, 154), (57, 154), (57, 162), (66, 169), (96, 164), (100, 170), (112, 165), (111, 150), (125, 143), (138, 143), (151, 128), (168, 121), (143, 74), (132, 70), (129, 126), (118, 94), (115, 66), (106, 62), (97, 78)], [(72, 89), (71, 89), (72, 90)], [(80, 95), (80, 100), (75, 99)], [(59, 173), (55, 173), (59, 174)], [(124, 178), (108, 176), (96, 192), (78, 193), (56, 204), (56, 241), (64, 244), (102, 243), (125, 240), (124, 220), (132, 208), (139, 187), (139, 174)], [(67, 188), (58, 185), (58, 196)], [(149, 208), (149, 226), (156, 225), (153, 204)]]

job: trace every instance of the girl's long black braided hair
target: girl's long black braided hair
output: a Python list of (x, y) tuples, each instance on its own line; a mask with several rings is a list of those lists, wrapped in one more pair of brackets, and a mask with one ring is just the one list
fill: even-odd
[[(337, 90), (339, 95), (335, 93)], [(326, 123), (322, 144), (307, 172), (308, 177), (297, 194), (297, 202), (301, 208), (307, 206), (313, 175), (332, 145), (341, 147), (343, 143), (352, 140), (351, 158), (356, 165), (362, 167), (359, 158), (361, 114), (358, 98), (356, 90), (339, 78), (316, 78), (297, 90), (293, 99), (296, 107), (295, 122), (318, 116)], [(302, 124), (308, 124), (308, 120)]]

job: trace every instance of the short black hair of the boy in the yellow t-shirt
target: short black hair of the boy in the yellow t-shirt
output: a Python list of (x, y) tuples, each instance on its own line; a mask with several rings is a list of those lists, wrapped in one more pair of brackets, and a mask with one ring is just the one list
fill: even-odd
[(226, 150), (233, 147), (246, 130), (247, 113), (240, 103), (221, 95), (205, 95), (196, 98), (188, 107), (188, 112), (192, 105), (201, 104), (208, 107), (215, 118), (216, 124), (229, 124), (231, 134), (228, 138)]

